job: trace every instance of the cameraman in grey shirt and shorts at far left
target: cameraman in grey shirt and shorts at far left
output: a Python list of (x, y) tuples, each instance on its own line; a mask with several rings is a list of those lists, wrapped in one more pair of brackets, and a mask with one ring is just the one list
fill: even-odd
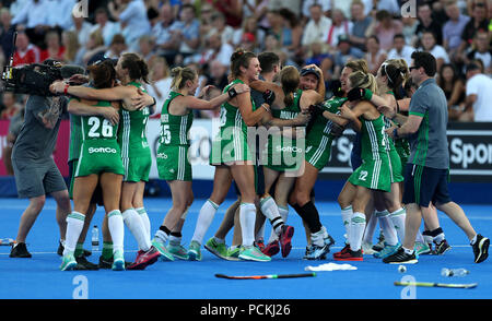
[[(60, 67), (52, 59), (43, 64)], [(83, 73), (81, 68), (80, 73)], [(63, 243), (66, 218), (71, 212), (70, 199), (55, 160), (54, 152), (61, 115), (67, 110), (67, 98), (62, 96), (31, 95), (26, 102), (24, 123), (12, 151), (12, 165), (19, 198), (30, 199), (30, 205), (21, 216), (15, 245), (11, 258), (31, 258), (25, 239), (46, 202), (46, 194), (57, 202), (56, 218)]]

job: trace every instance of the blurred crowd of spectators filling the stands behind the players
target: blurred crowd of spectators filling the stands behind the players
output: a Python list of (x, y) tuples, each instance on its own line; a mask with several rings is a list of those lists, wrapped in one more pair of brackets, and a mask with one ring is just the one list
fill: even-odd
[[(316, 63), (329, 88), (327, 98), (350, 59), (365, 59), (375, 74), (386, 59), (402, 58), (410, 64), (411, 54), (424, 50), (437, 59), (437, 83), (448, 98), (449, 120), (492, 121), (492, 111), (490, 119), (464, 112), (471, 91), (466, 67), (478, 64), (477, 73), (489, 79), (492, 71), (492, 0), (410, 1), (417, 3), (409, 9), (414, 17), (401, 16), (407, 3), (401, 0), (103, 0), (80, 2), (87, 8), (74, 16), (77, 2), (1, 1), (0, 64), (7, 64), (12, 52), (16, 67), (47, 58), (85, 67), (94, 55), (138, 52), (150, 67), (148, 91), (157, 102), (159, 117), (171, 87), (169, 69), (196, 68), (198, 91), (213, 84), (219, 94), (237, 47), (273, 51), (282, 66)], [(23, 95), (2, 93), (0, 118), (14, 117), (24, 102)]]

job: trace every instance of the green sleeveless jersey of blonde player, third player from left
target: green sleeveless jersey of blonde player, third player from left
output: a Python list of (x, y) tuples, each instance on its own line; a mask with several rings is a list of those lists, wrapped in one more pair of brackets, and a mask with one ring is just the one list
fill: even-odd
[(161, 138), (162, 145), (189, 145), (188, 132), (194, 122), (194, 114), (188, 112), (181, 116), (169, 114), (169, 104), (179, 93), (171, 92), (168, 98), (164, 102), (161, 111)]

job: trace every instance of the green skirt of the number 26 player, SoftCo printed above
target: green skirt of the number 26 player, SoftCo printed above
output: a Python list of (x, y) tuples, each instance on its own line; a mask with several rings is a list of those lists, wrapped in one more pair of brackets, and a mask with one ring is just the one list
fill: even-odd
[(82, 142), (75, 177), (113, 173), (124, 175), (121, 151), (116, 140), (85, 140)]

